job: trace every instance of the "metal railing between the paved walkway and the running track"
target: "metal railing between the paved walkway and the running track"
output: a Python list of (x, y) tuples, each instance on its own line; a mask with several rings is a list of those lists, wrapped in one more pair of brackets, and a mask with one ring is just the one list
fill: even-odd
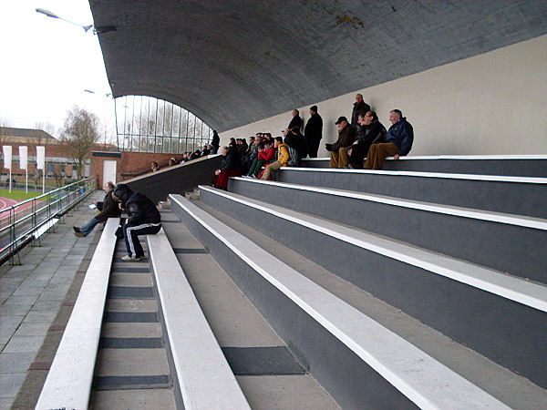
[[(40, 236), (96, 189), (95, 178), (80, 179), (0, 210), (0, 265)], [(19, 261), (20, 262), (20, 261)]]

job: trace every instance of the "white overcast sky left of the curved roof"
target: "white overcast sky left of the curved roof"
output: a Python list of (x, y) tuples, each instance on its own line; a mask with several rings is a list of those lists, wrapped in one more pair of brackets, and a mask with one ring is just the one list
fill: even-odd
[[(0, 1), (0, 124), (62, 128), (77, 105), (114, 127), (114, 103), (98, 36), (65, 21), (36, 13), (44, 8), (79, 25), (93, 17), (88, 0)], [(97, 94), (89, 94), (85, 89)]]

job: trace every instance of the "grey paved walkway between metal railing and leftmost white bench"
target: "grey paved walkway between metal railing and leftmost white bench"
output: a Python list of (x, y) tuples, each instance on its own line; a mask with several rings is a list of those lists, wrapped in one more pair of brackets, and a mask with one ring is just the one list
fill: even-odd
[(21, 251), (21, 265), (0, 267), (0, 410), (34, 408), (100, 236), (96, 228), (77, 238), (72, 226), (87, 222), (87, 204), (102, 197), (91, 194), (40, 246)]

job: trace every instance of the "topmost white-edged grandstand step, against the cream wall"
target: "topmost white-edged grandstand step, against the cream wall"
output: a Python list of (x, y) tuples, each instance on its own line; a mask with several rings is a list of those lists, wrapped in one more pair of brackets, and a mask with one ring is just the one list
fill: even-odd
[[(303, 167), (329, 168), (328, 158), (303, 159)], [(385, 170), (545, 177), (547, 155), (441, 155), (388, 157)]]

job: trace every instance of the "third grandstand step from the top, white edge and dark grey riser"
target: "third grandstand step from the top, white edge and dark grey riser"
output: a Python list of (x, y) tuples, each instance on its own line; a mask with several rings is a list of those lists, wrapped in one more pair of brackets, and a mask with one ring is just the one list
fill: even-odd
[(498, 271), (547, 282), (547, 220), (260, 179), (234, 178), (231, 190)]

